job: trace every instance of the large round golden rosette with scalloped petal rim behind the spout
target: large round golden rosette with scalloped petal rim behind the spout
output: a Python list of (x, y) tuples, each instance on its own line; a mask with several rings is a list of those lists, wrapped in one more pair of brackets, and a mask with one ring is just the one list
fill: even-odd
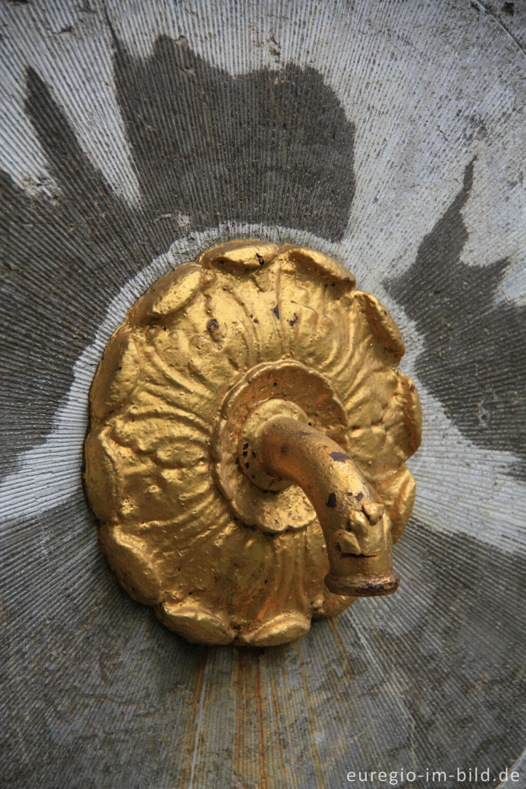
[(99, 546), (188, 641), (282, 644), (354, 599), (323, 583), (304, 492), (263, 484), (244, 449), (254, 413), (300, 415), (334, 439), (385, 504), (394, 542), (405, 528), (420, 401), (397, 370), (394, 321), (354, 284), (322, 252), (231, 241), (155, 282), (106, 346), (85, 443)]

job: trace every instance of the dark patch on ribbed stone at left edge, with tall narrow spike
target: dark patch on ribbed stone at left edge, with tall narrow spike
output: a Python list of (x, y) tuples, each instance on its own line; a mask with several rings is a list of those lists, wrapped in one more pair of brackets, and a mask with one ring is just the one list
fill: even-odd
[(2, 473), (49, 432), (108, 301), (175, 236), (112, 193), (32, 69), (27, 88), (26, 110), (59, 191), (33, 198), (0, 173)]

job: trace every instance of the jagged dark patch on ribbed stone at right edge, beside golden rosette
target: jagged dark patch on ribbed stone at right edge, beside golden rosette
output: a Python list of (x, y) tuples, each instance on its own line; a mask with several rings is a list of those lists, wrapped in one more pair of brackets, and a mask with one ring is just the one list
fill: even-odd
[(447, 415), (480, 447), (512, 451), (512, 473), (526, 470), (526, 308), (494, 305), (508, 265), (467, 266), (462, 208), (471, 193), (473, 162), (450, 208), (423, 238), (405, 274), (385, 282), (425, 338), (418, 376)]

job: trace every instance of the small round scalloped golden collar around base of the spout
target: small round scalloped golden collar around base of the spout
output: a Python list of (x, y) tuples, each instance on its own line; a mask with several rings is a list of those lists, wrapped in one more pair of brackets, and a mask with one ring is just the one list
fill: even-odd
[(301, 488), (259, 465), (258, 432), (275, 416), (305, 421), (349, 449), (345, 409), (333, 387), (300, 362), (257, 365), (226, 394), (211, 444), (218, 487), (241, 522), (269, 534), (304, 529), (316, 518)]

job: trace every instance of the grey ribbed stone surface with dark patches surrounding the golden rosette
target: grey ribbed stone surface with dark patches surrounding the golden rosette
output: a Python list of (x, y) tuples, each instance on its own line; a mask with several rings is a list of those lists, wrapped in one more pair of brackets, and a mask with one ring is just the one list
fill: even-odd
[[(0, 25), (2, 786), (525, 787), (524, 2), (4, 0)], [(203, 649), (99, 555), (88, 387), (153, 280), (254, 235), (390, 309), (417, 499), (395, 596)]]

